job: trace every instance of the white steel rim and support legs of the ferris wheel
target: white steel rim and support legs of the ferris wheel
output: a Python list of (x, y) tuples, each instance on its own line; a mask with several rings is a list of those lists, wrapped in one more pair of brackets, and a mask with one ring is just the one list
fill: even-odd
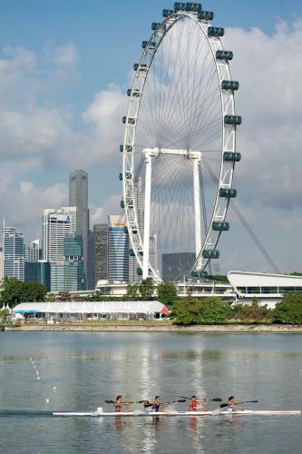
[[(175, 25), (180, 18), (187, 17), (196, 21), (200, 25), (203, 34), (208, 40), (208, 44), (216, 64), (217, 75), (220, 86), (221, 100), (221, 122), (222, 122), (222, 146), (220, 158), (219, 182), (217, 187), (216, 201), (209, 222), (208, 232), (203, 242), (201, 241), (201, 212), (200, 212), (200, 179), (199, 167), (202, 161), (202, 153), (188, 150), (168, 150), (168, 149), (144, 149), (144, 160), (146, 163), (145, 177), (145, 200), (144, 200), (144, 232), (143, 239), (138, 222), (138, 209), (135, 204), (134, 193), (134, 157), (135, 134), (137, 120), (140, 112), (141, 96), (143, 88), (148, 77), (149, 67), (151, 66), (154, 55), (157, 52), (164, 36), (169, 33), (170, 28)], [(209, 263), (209, 259), (204, 259), (202, 252), (205, 250), (214, 251), (219, 242), (221, 232), (212, 230), (213, 222), (224, 222), (229, 207), (229, 198), (219, 197), (221, 188), (231, 189), (233, 182), (233, 173), (235, 162), (226, 162), (223, 160), (223, 154), (226, 152), (236, 152), (236, 125), (227, 125), (224, 123), (225, 115), (236, 115), (234, 93), (231, 90), (222, 90), (221, 82), (223, 80), (231, 81), (229, 62), (227, 60), (218, 60), (216, 52), (224, 50), (221, 41), (217, 37), (208, 36), (209, 21), (199, 20), (197, 13), (179, 11), (174, 15), (167, 17), (161, 25), (152, 33), (148, 44), (144, 48), (137, 71), (134, 74), (132, 83), (132, 93), (128, 105), (128, 112), (125, 124), (125, 133), (122, 153), (122, 194), (127, 219), (128, 232), (135, 253), (137, 262), (142, 270), (142, 277), (152, 277), (154, 281), (161, 281), (158, 271), (154, 270), (149, 260), (149, 238), (150, 238), (150, 211), (151, 211), (151, 163), (152, 159), (161, 154), (174, 154), (187, 156), (193, 160), (193, 184), (194, 184), (194, 209), (195, 209), (195, 243), (196, 243), (196, 261), (188, 271), (202, 271)], [(156, 45), (154, 45), (154, 43)]]

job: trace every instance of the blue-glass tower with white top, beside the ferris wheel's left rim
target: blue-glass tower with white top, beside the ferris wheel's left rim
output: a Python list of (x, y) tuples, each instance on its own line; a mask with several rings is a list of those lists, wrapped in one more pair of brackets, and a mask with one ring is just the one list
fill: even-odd
[(108, 216), (108, 280), (129, 281), (129, 234), (124, 213)]

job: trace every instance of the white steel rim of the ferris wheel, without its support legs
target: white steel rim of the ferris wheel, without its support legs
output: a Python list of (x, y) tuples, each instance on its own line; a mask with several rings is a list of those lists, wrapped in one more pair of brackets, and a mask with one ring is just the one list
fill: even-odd
[[(127, 145), (129, 146), (128, 133), (129, 133), (129, 129), (132, 128), (132, 143), (131, 143), (131, 145), (132, 145), (132, 157), (131, 157), (131, 159), (132, 159), (132, 178), (134, 178), (134, 174), (133, 174), (133, 170), (134, 170), (134, 168), (133, 168), (133, 153), (134, 153), (134, 148), (135, 148), (137, 120), (139, 119), (139, 116), (140, 116), (141, 99), (143, 97), (143, 91), (144, 91), (144, 87), (145, 87), (145, 84), (146, 84), (146, 81), (147, 81), (147, 78), (148, 78), (149, 69), (151, 68), (151, 64), (152, 64), (152, 62), (154, 60), (155, 55), (158, 52), (158, 49), (159, 49), (159, 47), (161, 45), (162, 40), (169, 33), (170, 29), (174, 25), (176, 25), (181, 18), (184, 18), (184, 17), (187, 17), (190, 20), (194, 20), (196, 22), (196, 24), (198, 24), (200, 26), (200, 29), (201, 29), (203, 35), (205, 36), (205, 38), (207, 40), (207, 44), (209, 45), (209, 48), (210, 48), (210, 51), (211, 51), (211, 54), (212, 54), (212, 60), (215, 63), (216, 74), (217, 74), (218, 80), (219, 80), (219, 98), (220, 98), (221, 126), (222, 126), (221, 127), (221, 139), (222, 139), (221, 140), (221, 150), (219, 151), (219, 156), (220, 156), (220, 158), (219, 158), (220, 159), (219, 181), (217, 182), (216, 199), (215, 199), (215, 203), (214, 203), (214, 206), (213, 206), (213, 209), (212, 209), (212, 214), (211, 214), (211, 219), (210, 219), (209, 226), (208, 226), (208, 231), (206, 232), (204, 241), (202, 242), (202, 246), (201, 246), (201, 249), (200, 249), (200, 254), (196, 257), (196, 260), (192, 264), (192, 266), (190, 267), (190, 270), (188, 270), (188, 272), (187, 272), (187, 276), (188, 276), (188, 275), (190, 275), (190, 273), (192, 271), (194, 271), (196, 269), (196, 266), (200, 262), (200, 258), (202, 257), (202, 254), (203, 254), (204, 250), (209, 245), (210, 235), (212, 233), (212, 224), (213, 224), (213, 222), (215, 220), (215, 216), (217, 215), (218, 206), (219, 206), (219, 199), (220, 199), (219, 190), (223, 186), (223, 169), (224, 169), (223, 153), (225, 153), (226, 142), (227, 142), (226, 124), (224, 122), (224, 117), (225, 117), (226, 112), (228, 111), (228, 108), (225, 107), (225, 100), (224, 100), (224, 96), (223, 96), (223, 90), (222, 90), (222, 87), (221, 87), (222, 79), (221, 79), (221, 74), (219, 72), (219, 61), (216, 58), (215, 46), (213, 44), (215, 42), (216, 43), (216, 47), (219, 48), (219, 50), (221, 50), (221, 51), (223, 51), (224, 48), (223, 48), (219, 38), (215, 38), (215, 40), (211, 40), (209, 38), (209, 35), (207, 33), (208, 32), (208, 28), (210, 26), (209, 25), (209, 21), (208, 22), (207, 21), (200, 21), (197, 18), (196, 15), (193, 15), (193, 14), (191, 14), (189, 12), (185, 12), (185, 11), (175, 12), (173, 15), (170, 15), (169, 17), (166, 17), (161, 22), (161, 24), (158, 26), (158, 28), (156, 30), (154, 30), (153, 33), (151, 34), (151, 37), (150, 37), (149, 41), (147, 42), (146, 47), (144, 48), (144, 50), (143, 50), (143, 52), (141, 54), (141, 59), (140, 59), (140, 62), (138, 64), (138, 68), (135, 71), (135, 74), (134, 74), (134, 77), (133, 77), (133, 81), (132, 81), (132, 89), (131, 89), (132, 94), (130, 96), (130, 100), (129, 100), (129, 104), (128, 104), (128, 111), (127, 111), (125, 132), (124, 132), (124, 141), (123, 141), (122, 173), (123, 173), (123, 175), (125, 174), (125, 172), (126, 172), (126, 162), (127, 162), (127, 160), (129, 160), (129, 153), (127, 152)], [(159, 42), (157, 43), (154, 51), (151, 54), (151, 61), (150, 61), (149, 66), (145, 68), (145, 73), (146, 74), (145, 74), (145, 77), (144, 77), (144, 80), (143, 80), (143, 84), (142, 84), (142, 87), (141, 87), (141, 95), (140, 95), (140, 98), (139, 98), (139, 101), (138, 101), (138, 107), (137, 107), (137, 113), (136, 113), (136, 122), (135, 122), (134, 125), (132, 125), (132, 124), (128, 123), (128, 119), (131, 118), (132, 103), (137, 101), (137, 100), (133, 99), (133, 93), (135, 91), (135, 85), (136, 85), (136, 82), (137, 82), (137, 79), (138, 79), (139, 68), (142, 67), (143, 62), (144, 62), (144, 58), (146, 57), (146, 54), (148, 53), (148, 51), (151, 50), (151, 44), (153, 43), (153, 40), (155, 39), (155, 37), (159, 37), (159, 31), (160, 30), (161, 30), (161, 36), (160, 36)], [(226, 76), (228, 76), (228, 80), (232, 81), (230, 70), (229, 70), (229, 62), (228, 61), (225, 62), (224, 69), (225, 69)], [(232, 115), (236, 115), (234, 93), (229, 94), (229, 105), (230, 105), (231, 114)], [(236, 151), (236, 127), (233, 129), (232, 133), (233, 133), (233, 151), (235, 153), (235, 151)], [(232, 187), (234, 167), (235, 167), (235, 163), (232, 164), (232, 169), (230, 169), (230, 173), (231, 173), (231, 176), (229, 178), (229, 187), (230, 188)], [(138, 262), (139, 266), (142, 269), (142, 255), (141, 255), (141, 252), (143, 250), (143, 242), (142, 242), (142, 238), (141, 238), (140, 229), (138, 228), (138, 214), (137, 214), (137, 207), (135, 206), (135, 202), (134, 202), (135, 201), (134, 189), (131, 192), (131, 194), (132, 194), (132, 203), (134, 205), (132, 207), (132, 213), (131, 213), (130, 212), (129, 203), (128, 203), (128, 200), (127, 200), (127, 197), (129, 199), (129, 187), (127, 186), (127, 182), (126, 182), (125, 178), (122, 178), (122, 188), (123, 188), (122, 193), (123, 193), (123, 201), (124, 201), (124, 205), (125, 205), (125, 214), (126, 214), (127, 228), (128, 228), (128, 232), (129, 232), (129, 236), (130, 236), (133, 252), (135, 254), (135, 257), (137, 259), (137, 262)], [(225, 211), (224, 211), (223, 216), (221, 218), (221, 219), (223, 219), (223, 221), (225, 221), (226, 216), (227, 216), (227, 212), (228, 212), (228, 208), (229, 208), (229, 199), (226, 200), (224, 205), (225, 205)], [(133, 214), (134, 214), (134, 218), (133, 218)], [(136, 232), (135, 232), (136, 238), (134, 237), (134, 234), (133, 234), (133, 229), (132, 229), (133, 223), (136, 224), (136, 226), (137, 226), (137, 229), (136, 229)], [(216, 236), (215, 236), (215, 241), (212, 242), (212, 245), (211, 245), (213, 250), (216, 250), (216, 247), (217, 247), (217, 244), (219, 242), (220, 236), (221, 236), (221, 232), (218, 232), (216, 234)], [(203, 270), (206, 268), (206, 266), (208, 265), (209, 261), (210, 261), (210, 259), (206, 259), (205, 260), (204, 266), (202, 268)], [(151, 277), (155, 281), (161, 281), (160, 274), (151, 267), (150, 263), (149, 263), (149, 268), (150, 268), (150, 271), (151, 271)]]

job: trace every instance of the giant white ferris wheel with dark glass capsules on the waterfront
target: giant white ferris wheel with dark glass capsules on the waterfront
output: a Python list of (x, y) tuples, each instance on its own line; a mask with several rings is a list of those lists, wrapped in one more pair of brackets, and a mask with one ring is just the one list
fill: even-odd
[[(232, 187), (237, 127), (222, 27), (200, 4), (175, 3), (151, 25), (141, 60), (134, 64), (122, 152), (122, 208), (130, 254), (143, 279), (162, 280), (161, 257), (185, 257), (180, 274), (201, 278), (226, 221)], [(156, 259), (157, 257), (157, 259)]]

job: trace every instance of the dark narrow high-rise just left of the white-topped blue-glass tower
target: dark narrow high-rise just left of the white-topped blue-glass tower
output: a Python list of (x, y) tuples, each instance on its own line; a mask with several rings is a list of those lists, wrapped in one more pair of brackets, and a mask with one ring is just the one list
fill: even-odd
[(108, 224), (94, 224), (94, 284), (108, 281)]

